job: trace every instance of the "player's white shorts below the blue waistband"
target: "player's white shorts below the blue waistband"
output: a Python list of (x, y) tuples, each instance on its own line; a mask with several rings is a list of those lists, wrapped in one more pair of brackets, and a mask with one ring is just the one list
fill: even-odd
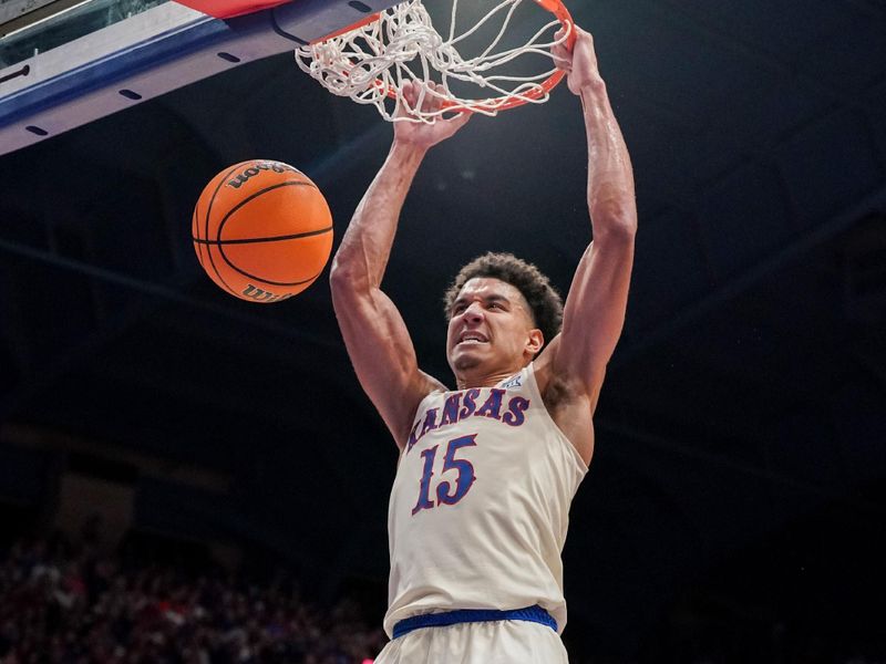
[(375, 664), (568, 664), (559, 634), (523, 620), (423, 627), (390, 641)]

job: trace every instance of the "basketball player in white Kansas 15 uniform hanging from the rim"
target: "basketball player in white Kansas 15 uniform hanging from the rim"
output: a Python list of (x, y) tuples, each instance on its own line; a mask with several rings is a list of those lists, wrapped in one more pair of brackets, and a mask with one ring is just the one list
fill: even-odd
[[(388, 159), (333, 262), (348, 353), (400, 448), (382, 664), (567, 662), (560, 552), (625, 320), (637, 212), (591, 35), (578, 30), (571, 52), (553, 54), (584, 108), (594, 235), (565, 307), (534, 267), (486, 255), (447, 294), (456, 390), (419, 370), (403, 319), (380, 287), (413, 176), (466, 114), (394, 124)], [(414, 104), (418, 90), (405, 93)]]

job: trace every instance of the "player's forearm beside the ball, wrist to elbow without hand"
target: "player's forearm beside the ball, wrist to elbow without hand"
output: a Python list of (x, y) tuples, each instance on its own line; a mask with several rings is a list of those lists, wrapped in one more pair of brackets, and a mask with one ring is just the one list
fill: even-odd
[(379, 288), (393, 246), (400, 210), (426, 148), (391, 146), (378, 175), (351, 218), (332, 263), (333, 286)]

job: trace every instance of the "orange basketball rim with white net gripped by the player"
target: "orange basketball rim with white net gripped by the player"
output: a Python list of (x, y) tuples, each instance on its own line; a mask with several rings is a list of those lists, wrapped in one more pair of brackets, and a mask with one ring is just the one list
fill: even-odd
[[(482, 4), (481, 0), (471, 1)], [(537, 74), (512, 74), (505, 69), (526, 55), (553, 60), (550, 48), (557, 44), (566, 43), (571, 49), (575, 42), (571, 17), (560, 0), (528, 0), (530, 4), (550, 12), (555, 20), (538, 28), (519, 45), (496, 53), (493, 51), (499, 46), (524, 0), (496, 1), (497, 4), (474, 21), (468, 30), (455, 35), (459, 0), (452, 0), (449, 35), (444, 39), (433, 27), (421, 0), (406, 0), (346, 31), (298, 49), (296, 61), (302, 71), (333, 94), (348, 96), (359, 104), (373, 104), (385, 120), (392, 122), (432, 123), (442, 114), (452, 112), (494, 116), (499, 111), (522, 104), (544, 103), (565, 75), (556, 63), (554, 69)], [(475, 56), (462, 56), (456, 46), (464, 46), (468, 38), (476, 39), (475, 33), (481, 28), (494, 28), (495, 20), (501, 20), (502, 25), (491, 43)], [(564, 29), (563, 34), (550, 34), (557, 28)], [(422, 84), (414, 104), (416, 107), (412, 107), (402, 94), (406, 81)], [(430, 82), (436, 85), (431, 89)], [(486, 92), (486, 96), (473, 98), (461, 89), (456, 94), (452, 84), (478, 87), (481, 93), (492, 91), (496, 96), (488, 96)], [(442, 100), (437, 110), (422, 111), (425, 95)], [(393, 100), (393, 108), (390, 100)], [(398, 115), (401, 106), (408, 114)]]

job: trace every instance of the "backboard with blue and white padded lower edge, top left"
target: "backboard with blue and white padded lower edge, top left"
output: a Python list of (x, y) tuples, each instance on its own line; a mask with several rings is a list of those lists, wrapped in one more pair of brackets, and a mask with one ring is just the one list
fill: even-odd
[(17, 15), (27, 24), (0, 38), (0, 155), (238, 64), (292, 51), (395, 3), (56, 0), (44, 12), (61, 10), (34, 21)]

